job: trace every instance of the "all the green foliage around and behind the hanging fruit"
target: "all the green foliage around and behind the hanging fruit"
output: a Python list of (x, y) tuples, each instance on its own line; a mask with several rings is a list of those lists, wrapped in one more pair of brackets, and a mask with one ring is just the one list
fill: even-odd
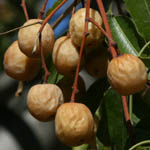
[[(53, 7), (47, 11), (47, 15), (61, 2), (62, 0), (56, 1)], [(117, 16), (113, 14), (112, 10), (108, 10), (113, 14), (108, 14), (113, 39), (121, 54), (130, 53), (138, 56), (149, 69), (150, 0), (125, 0), (124, 3), (125, 12), (123, 15)], [(1, 44), (2, 51), (0, 51), (1, 59), (3, 49), (8, 46), (3, 42), (4, 39), (8, 40), (7, 37), (0, 40), (3, 43)], [(57, 72), (51, 56), (47, 58), (47, 64), (51, 72), (48, 82), (57, 83), (63, 76)], [(2, 69), (2, 61), (0, 66)], [(150, 139), (150, 93), (149, 91), (145, 95), (143, 93), (144, 91), (128, 97), (135, 144)], [(96, 139), (98, 150), (128, 150), (131, 148), (121, 96), (109, 86), (106, 78), (94, 82), (87, 90), (85, 100), (82, 102), (91, 109), (99, 120)], [(137, 150), (150, 149), (150, 143), (145, 144), (146, 146), (138, 145)], [(88, 145), (73, 147), (73, 150), (87, 149), (90, 149)]]

